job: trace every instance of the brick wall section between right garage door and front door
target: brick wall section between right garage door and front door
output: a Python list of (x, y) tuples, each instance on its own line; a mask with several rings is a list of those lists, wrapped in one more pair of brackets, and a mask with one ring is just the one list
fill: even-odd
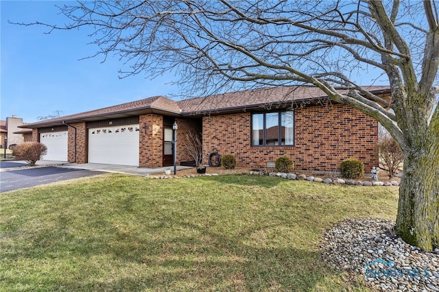
[(139, 167), (163, 165), (163, 116), (139, 116)]

